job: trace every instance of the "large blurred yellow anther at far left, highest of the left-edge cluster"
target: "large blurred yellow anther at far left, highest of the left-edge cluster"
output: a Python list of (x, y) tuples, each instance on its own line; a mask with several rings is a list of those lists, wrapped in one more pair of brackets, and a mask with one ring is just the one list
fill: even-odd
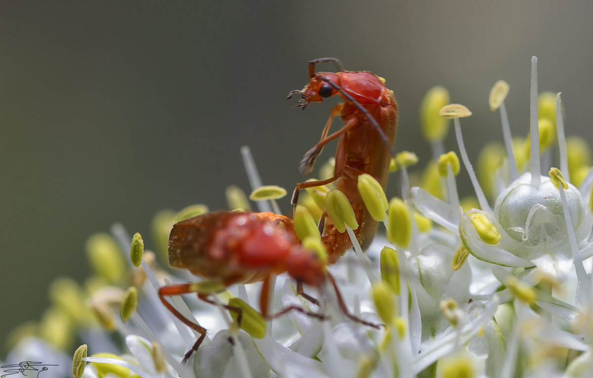
[(110, 235), (97, 233), (88, 238), (87, 257), (93, 270), (110, 283), (122, 280), (126, 271), (122, 252)]

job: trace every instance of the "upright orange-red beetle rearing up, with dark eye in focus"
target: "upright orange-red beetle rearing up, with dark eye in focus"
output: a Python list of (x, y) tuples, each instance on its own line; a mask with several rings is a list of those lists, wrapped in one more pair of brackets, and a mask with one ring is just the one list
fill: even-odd
[[(320, 142), (301, 161), (301, 171), (304, 174), (310, 173), (323, 146), (339, 138), (334, 175), (327, 180), (297, 184), (293, 204), (296, 204), (299, 190), (337, 181), (337, 189), (349, 198), (358, 220), (356, 238), (362, 249), (366, 249), (377, 232), (378, 222), (372, 219), (362, 202), (357, 187), (358, 176), (370, 174), (385, 190), (391, 148), (396, 136), (397, 103), (393, 92), (385, 87), (384, 80), (371, 72), (314, 72), (315, 63), (334, 61), (329, 58), (310, 62), (309, 84), (300, 91), (291, 92), (291, 95), (301, 94), (301, 100), (295, 106), (301, 108), (307, 107), (310, 102), (321, 102), (336, 94), (344, 100), (331, 110)], [(331, 122), (338, 114), (345, 124), (342, 129), (328, 136)], [(337, 261), (352, 246), (347, 233), (338, 232), (329, 219), (325, 221), (321, 238), (329, 253), (329, 262)]]

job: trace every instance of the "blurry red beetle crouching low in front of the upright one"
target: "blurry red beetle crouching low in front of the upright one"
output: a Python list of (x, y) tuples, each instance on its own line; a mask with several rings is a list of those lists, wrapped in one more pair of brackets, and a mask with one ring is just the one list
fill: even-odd
[[(187, 269), (206, 280), (224, 286), (263, 281), (260, 309), (266, 318), (273, 318), (290, 310), (324, 318), (298, 306), (287, 307), (272, 316), (267, 314), (270, 277), (287, 272), (297, 281), (298, 293), (314, 303), (317, 300), (302, 292), (302, 284), (321, 287), (329, 280), (345, 316), (378, 328), (377, 325), (362, 321), (348, 312), (336, 282), (326, 270), (326, 262), (318, 254), (301, 247), (292, 220), (285, 216), (238, 212), (203, 214), (176, 223), (169, 236), (168, 249), (172, 267)], [(165, 297), (195, 292), (193, 284), (173, 284), (161, 287), (158, 291), (162, 303), (184, 324), (200, 333), (183, 362), (200, 346), (206, 336), (206, 329), (181, 315)], [(214, 303), (208, 298), (209, 294), (197, 295), (206, 302)], [(238, 307), (224, 306), (230, 311), (241, 313)]]

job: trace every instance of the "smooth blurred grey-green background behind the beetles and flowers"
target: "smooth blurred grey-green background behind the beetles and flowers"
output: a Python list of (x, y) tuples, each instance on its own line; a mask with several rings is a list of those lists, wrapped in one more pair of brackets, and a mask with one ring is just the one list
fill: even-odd
[(92, 233), (121, 222), (148, 236), (158, 210), (224, 209), (228, 185), (248, 191), (241, 146), (264, 184), (291, 191), (336, 102), (285, 100), (311, 59), (386, 78), (396, 149), (421, 164), (418, 107), (433, 85), (474, 112), (462, 122), (474, 162), (501, 138), (487, 108), (499, 79), (524, 136), (531, 55), (540, 91), (563, 92), (568, 134), (592, 142), (592, 20), (586, 0), (0, 2), (0, 339), (40, 318), (52, 278), (88, 276)]

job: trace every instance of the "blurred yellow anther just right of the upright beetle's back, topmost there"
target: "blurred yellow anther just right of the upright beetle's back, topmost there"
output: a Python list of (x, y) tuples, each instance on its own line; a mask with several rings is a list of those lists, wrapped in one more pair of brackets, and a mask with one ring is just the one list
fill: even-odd
[(447, 136), (449, 121), (439, 116), (439, 110), (449, 103), (449, 92), (444, 87), (433, 87), (426, 92), (420, 105), (420, 126), (429, 142)]

